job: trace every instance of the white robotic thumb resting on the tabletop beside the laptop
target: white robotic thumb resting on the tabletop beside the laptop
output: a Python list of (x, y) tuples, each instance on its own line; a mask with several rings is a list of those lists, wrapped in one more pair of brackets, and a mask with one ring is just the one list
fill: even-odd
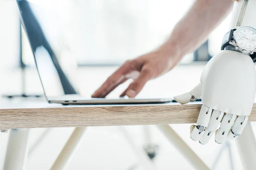
[(196, 99), (199, 99), (202, 94), (202, 82), (200, 82), (195, 88), (191, 91), (175, 96), (174, 99), (180, 104), (186, 104), (188, 102), (195, 102)]

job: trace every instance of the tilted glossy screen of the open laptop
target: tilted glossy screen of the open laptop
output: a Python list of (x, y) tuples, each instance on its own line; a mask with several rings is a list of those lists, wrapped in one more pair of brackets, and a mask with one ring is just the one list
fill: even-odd
[(17, 0), (17, 5), (45, 95), (78, 94), (76, 62), (72, 59), (67, 42), (56, 34), (64, 31), (61, 19), (54, 10), (31, 0)]

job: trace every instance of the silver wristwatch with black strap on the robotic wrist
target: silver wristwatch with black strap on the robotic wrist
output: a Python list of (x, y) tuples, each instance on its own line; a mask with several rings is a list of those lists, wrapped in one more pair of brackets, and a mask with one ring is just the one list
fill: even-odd
[(250, 26), (231, 29), (223, 38), (221, 50), (239, 51), (249, 55), (255, 61), (256, 29)]

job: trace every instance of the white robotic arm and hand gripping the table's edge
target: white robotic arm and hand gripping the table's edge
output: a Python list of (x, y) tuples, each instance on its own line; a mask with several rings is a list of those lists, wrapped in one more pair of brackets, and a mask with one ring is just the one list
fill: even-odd
[[(256, 22), (252, 20), (256, 18), (255, 6), (256, 0), (235, 2), (230, 28), (256, 28)], [(240, 37), (247, 38), (243, 35)], [(241, 42), (245, 41), (254, 44), (251, 38)], [(201, 97), (203, 105), (197, 126), (191, 127), (191, 139), (199, 140), (201, 144), (209, 141), (220, 122), (220, 128), (215, 132), (215, 142), (223, 143), (226, 139), (239, 136), (252, 110), (256, 93), (255, 66), (250, 54), (243, 54), (245, 50), (239, 52), (238, 47), (235, 49), (237, 51), (223, 50), (212, 57), (204, 68), (201, 82), (188, 93), (174, 97), (181, 104), (194, 102)]]

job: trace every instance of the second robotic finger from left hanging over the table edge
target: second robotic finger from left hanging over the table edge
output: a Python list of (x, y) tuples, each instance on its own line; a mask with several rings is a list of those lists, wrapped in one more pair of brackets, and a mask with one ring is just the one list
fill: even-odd
[(223, 116), (224, 116), (224, 112), (222, 111), (216, 111), (216, 110), (212, 111), (212, 115), (210, 117), (208, 127), (204, 132), (203, 136), (201, 137), (201, 139), (199, 140), (201, 144), (207, 144), (209, 142), (213, 133), (217, 129), (218, 125), (220, 124)]

